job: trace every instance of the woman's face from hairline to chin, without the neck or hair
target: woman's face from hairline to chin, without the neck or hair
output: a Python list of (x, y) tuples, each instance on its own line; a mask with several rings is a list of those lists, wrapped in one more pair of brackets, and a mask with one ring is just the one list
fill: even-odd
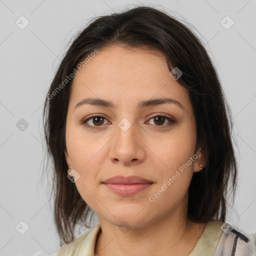
[[(94, 103), (76, 106), (85, 98)], [(171, 100), (153, 101), (159, 98)], [(91, 115), (98, 117), (82, 123)], [(99, 50), (74, 76), (65, 136), (69, 175), (99, 218), (138, 227), (186, 214), (192, 174), (204, 162), (188, 91), (169, 75), (161, 53)], [(112, 185), (126, 191), (118, 193), (102, 183), (116, 175), (151, 183)]]

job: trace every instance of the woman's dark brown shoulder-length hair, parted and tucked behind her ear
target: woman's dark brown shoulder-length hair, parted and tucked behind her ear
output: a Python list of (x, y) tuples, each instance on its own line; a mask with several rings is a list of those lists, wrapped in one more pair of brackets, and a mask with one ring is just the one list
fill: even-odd
[[(196, 121), (196, 144), (206, 155), (205, 167), (192, 176), (187, 217), (203, 223), (212, 219), (225, 221), (228, 188), (230, 185), (233, 201), (237, 174), (230, 109), (216, 70), (202, 42), (181, 21), (165, 11), (139, 6), (91, 20), (65, 53), (45, 99), (44, 136), (48, 158), (54, 164), (54, 221), (60, 245), (75, 238), (76, 225), (90, 227), (87, 220), (93, 213), (66, 177), (65, 124), (73, 79), (65, 79), (95, 49), (113, 44), (161, 51), (169, 70), (178, 67), (182, 71), (177, 81), (189, 92)], [(61, 89), (56, 90), (57, 87)]]

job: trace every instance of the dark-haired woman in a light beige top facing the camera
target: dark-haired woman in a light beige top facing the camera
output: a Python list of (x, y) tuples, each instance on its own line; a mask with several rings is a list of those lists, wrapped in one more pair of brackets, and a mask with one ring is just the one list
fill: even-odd
[[(226, 221), (230, 119), (206, 50), (181, 22), (143, 6), (96, 18), (44, 105), (66, 243), (55, 255), (254, 255), (252, 235)], [(90, 229), (75, 239), (77, 225)]]

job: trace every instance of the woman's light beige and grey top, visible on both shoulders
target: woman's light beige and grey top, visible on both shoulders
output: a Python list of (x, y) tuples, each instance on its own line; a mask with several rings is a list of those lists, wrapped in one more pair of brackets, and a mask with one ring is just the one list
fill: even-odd
[[(256, 234), (248, 234), (235, 227), (229, 233), (222, 231), (224, 222), (212, 220), (204, 230), (188, 256), (253, 256), (256, 255)], [(100, 223), (94, 225), (52, 256), (96, 256), (94, 253)], [(166, 253), (167, 255), (167, 253)]]

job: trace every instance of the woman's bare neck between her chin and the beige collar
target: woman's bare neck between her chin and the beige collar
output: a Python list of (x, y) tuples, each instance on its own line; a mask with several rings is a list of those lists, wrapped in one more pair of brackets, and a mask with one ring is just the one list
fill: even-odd
[(194, 223), (179, 212), (161, 217), (151, 224), (120, 229), (99, 217), (101, 231), (95, 245), (99, 256), (189, 255), (205, 224)]

